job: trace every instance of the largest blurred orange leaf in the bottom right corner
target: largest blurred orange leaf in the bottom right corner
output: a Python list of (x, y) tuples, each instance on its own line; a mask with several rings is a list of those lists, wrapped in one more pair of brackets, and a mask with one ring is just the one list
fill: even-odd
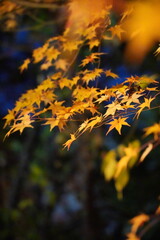
[(142, 226), (145, 222), (149, 221), (149, 216), (147, 214), (140, 214), (130, 220), (130, 223), (132, 224), (131, 232), (136, 233), (138, 228)]

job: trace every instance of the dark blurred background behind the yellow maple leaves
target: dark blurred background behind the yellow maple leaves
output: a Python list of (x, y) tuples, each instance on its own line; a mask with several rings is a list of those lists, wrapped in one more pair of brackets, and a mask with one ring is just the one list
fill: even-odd
[[(101, 170), (105, 153), (125, 143), (129, 134), (131, 140), (140, 139), (142, 128), (159, 121), (159, 110), (142, 113), (133, 132), (124, 130), (123, 136), (113, 132), (106, 137), (103, 127), (86, 133), (68, 152), (62, 148), (68, 133), (50, 132), (48, 127), (38, 125), (3, 141), (7, 130), (2, 129), (2, 118), (7, 110), (48, 74), (37, 65), (20, 74), (19, 66), (31, 57), (33, 49), (63, 32), (65, 19), (63, 8), (28, 9), (16, 16), (15, 25), (7, 25), (6, 19), (1, 18), (1, 240), (123, 240), (129, 231), (130, 218), (141, 212), (152, 214), (159, 205), (159, 148), (131, 170), (121, 200), (114, 183), (106, 182)], [(117, 20), (114, 14), (112, 20)], [(141, 65), (133, 66), (124, 62), (125, 43), (104, 44), (102, 51), (109, 54), (101, 64), (105, 67), (107, 62), (106, 68), (112, 68), (120, 81), (130, 75), (159, 73), (160, 61), (153, 56), (156, 47)], [(115, 80), (108, 81), (112, 85)], [(103, 79), (100, 84), (104, 86)], [(143, 239), (159, 240), (159, 229), (160, 224), (153, 226)]]

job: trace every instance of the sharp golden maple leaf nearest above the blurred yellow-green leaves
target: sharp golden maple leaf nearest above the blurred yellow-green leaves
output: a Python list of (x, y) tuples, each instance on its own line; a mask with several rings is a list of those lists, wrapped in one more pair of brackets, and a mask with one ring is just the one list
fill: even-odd
[(126, 119), (127, 118), (117, 118), (117, 119), (114, 119), (113, 121), (107, 123), (109, 125), (111, 125), (108, 129), (108, 132), (106, 133), (106, 135), (112, 130), (112, 129), (116, 129), (118, 131), (119, 134), (121, 134), (121, 128), (123, 125), (126, 125), (126, 126), (130, 126), (127, 122), (126, 122)]

